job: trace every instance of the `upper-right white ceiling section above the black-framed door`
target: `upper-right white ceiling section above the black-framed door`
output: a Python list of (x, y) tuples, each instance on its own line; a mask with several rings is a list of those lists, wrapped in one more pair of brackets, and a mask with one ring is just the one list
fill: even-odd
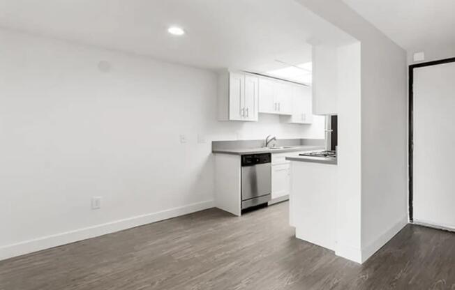
[(454, 0), (343, 0), (408, 52), (455, 52)]

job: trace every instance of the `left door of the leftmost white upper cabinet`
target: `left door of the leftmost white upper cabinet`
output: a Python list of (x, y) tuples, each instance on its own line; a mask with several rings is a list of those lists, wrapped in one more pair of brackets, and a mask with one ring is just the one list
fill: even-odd
[(229, 119), (234, 121), (244, 120), (245, 114), (245, 76), (230, 73), (229, 77)]

